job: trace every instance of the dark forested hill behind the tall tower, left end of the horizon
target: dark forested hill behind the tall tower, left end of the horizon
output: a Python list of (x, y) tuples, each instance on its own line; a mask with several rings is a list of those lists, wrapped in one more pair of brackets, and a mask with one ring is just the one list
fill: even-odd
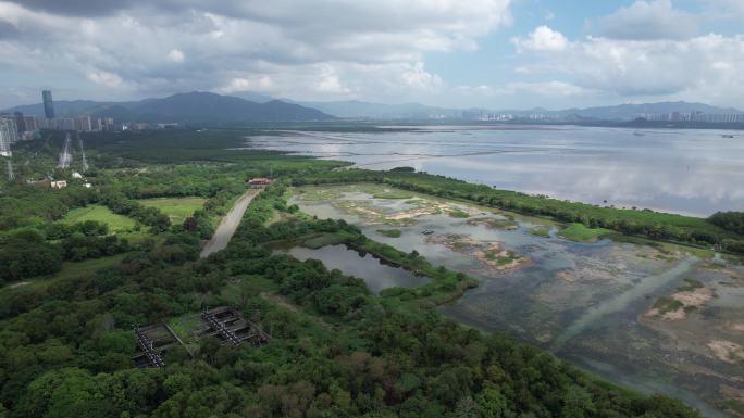
[[(17, 106), (5, 112), (20, 111), (29, 115), (44, 115), (41, 104)], [(331, 121), (334, 116), (315, 109), (271, 100), (264, 103), (194, 91), (173, 94), (162, 99), (137, 102), (94, 102), (88, 100), (54, 101), (59, 116), (91, 115), (113, 117), (131, 122), (182, 122), (182, 123), (255, 123), (255, 122), (307, 122)]]

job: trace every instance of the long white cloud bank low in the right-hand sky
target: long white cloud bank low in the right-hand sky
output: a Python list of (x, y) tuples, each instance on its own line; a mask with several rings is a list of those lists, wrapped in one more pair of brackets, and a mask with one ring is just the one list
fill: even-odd
[[(668, 97), (739, 104), (744, 94), (744, 36), (706, 35), (686, 40), (586, 37), (562, 48), (536, 48), (534, 36), (517, 48), (540, 52), (538, 68), (562, 73), (584, 89), (621, 97)], [(563, 39), (556, 36), (558, 39)], [(560, 89), (558, 89), (560, 90)], [(567, 90), (570, 91), (570, 90)]]

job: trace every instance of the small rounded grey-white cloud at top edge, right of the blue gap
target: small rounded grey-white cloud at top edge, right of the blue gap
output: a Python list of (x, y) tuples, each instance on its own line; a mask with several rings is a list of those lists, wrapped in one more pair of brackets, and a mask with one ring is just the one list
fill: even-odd
[(598, 26), (603, 36), (615, 39), (689, 39), (697, 34), (697, 18), (675, 10), (671, 0), (638, 0), (600, 18)]

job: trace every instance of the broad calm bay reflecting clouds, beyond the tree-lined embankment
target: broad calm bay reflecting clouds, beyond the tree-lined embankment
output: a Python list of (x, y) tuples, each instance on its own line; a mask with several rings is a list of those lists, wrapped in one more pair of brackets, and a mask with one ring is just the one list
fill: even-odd
[(370, 169), (412, 166), (501, 189), (618, 207), (698, 216), (744, 210), (742, 131), (448, 126), (384, 134), (292, 131), (251, 137), (249, 144), (351, 161)]

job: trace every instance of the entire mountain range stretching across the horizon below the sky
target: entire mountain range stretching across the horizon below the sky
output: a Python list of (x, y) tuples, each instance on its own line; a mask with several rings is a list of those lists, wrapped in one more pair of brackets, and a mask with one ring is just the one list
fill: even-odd
[[(193, 124), (231, 124), (260, 122), (310, 122), (336, 118), (370, 121), (423, 121), (423, 119), (476, 119), (479, 115), (497, 113), (526, 118), (540, 114), (563, 121), (632, 121), (638, 114), (668, 114), (672, 112), (702, 112), (707, 114), (744, 113), (732, 107), (718, 107), (705, 103), (659, 102), (620, 104), (585, 109), (550, 111), (545, 109), (501, 110), (447, 109), (420, 103), (383, 104), (358, 100), (347, 101), (294, 101), (274, 99), (251, 92), (221, 96), (194, 91), (161, 99), (133, 102), (96, 102), (90, 100), (55, 101), (58, 116), (89, 114), (95, 117), (113, 117), (131, 122), (181, 122)], [(42, 115), (41, 103), (16, 106), (4, 112), (20, 111), (29, 115)]]

